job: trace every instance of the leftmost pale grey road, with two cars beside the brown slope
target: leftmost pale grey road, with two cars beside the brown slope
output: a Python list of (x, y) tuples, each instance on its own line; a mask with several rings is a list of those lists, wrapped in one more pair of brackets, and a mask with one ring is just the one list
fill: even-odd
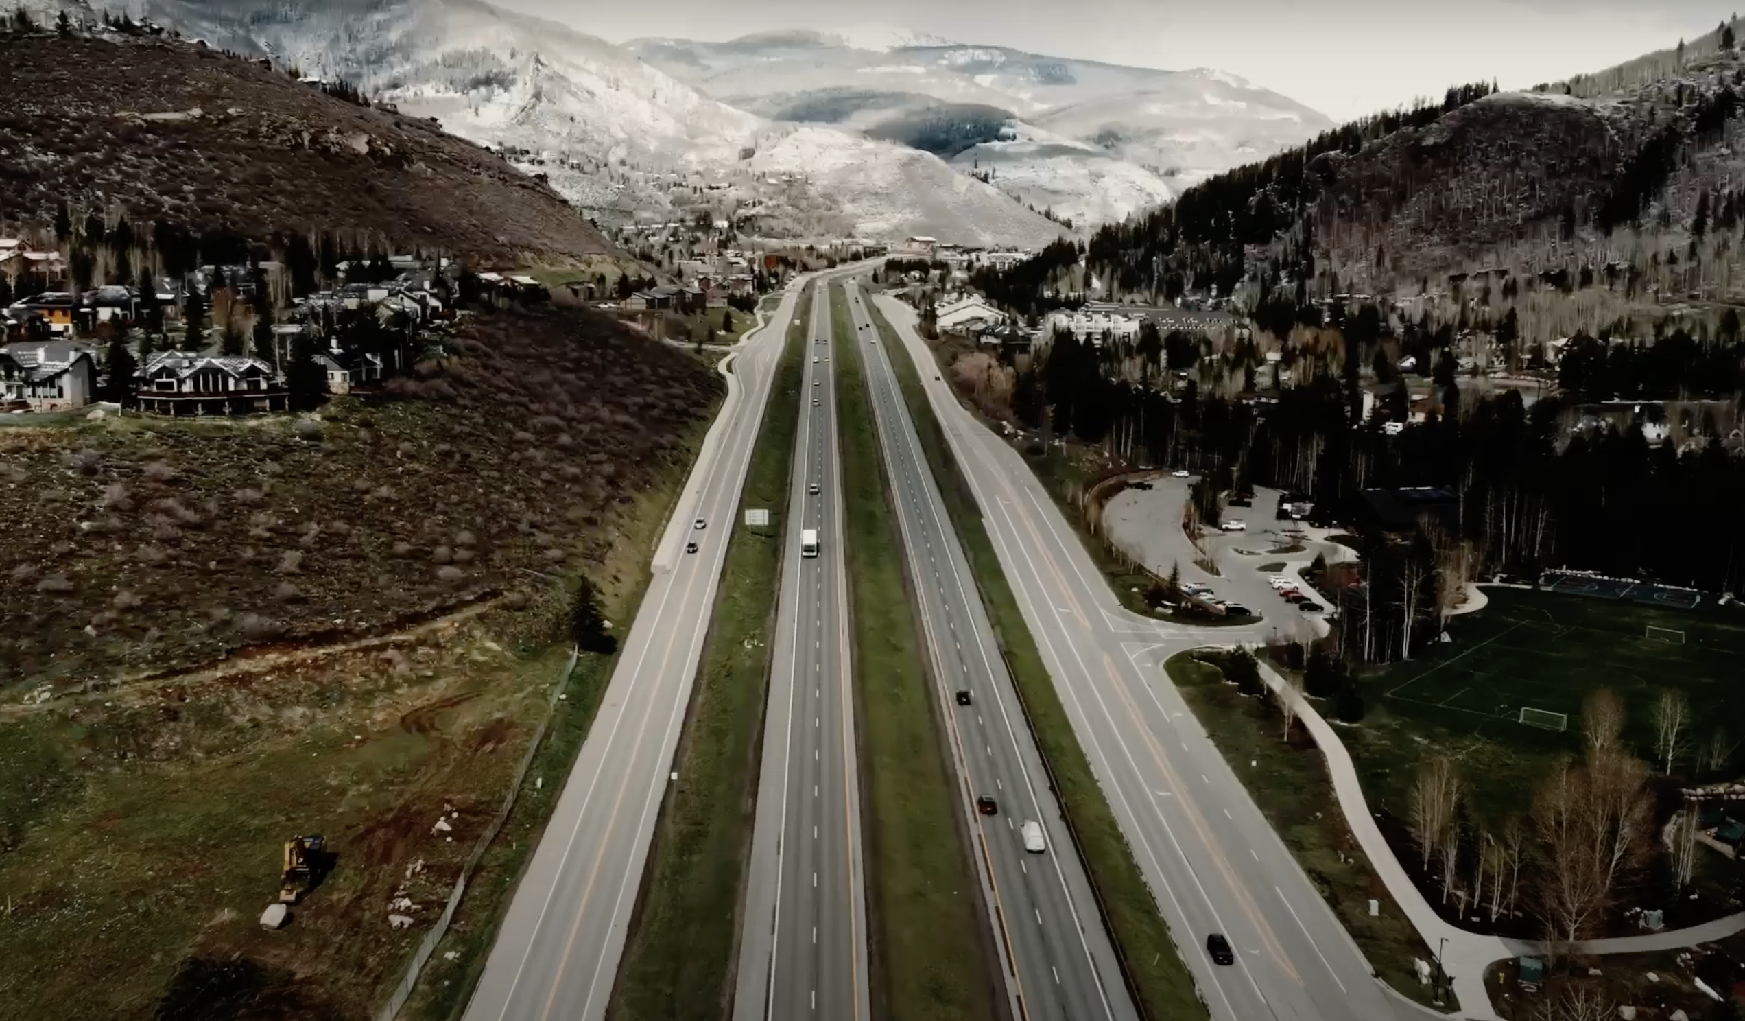
[[(468, 1021), (597, 1021), (606, 1012), (794, 302), (796, 293), (785, 293), (770, 325), (731, 356), (728, 403), (668, 522), (642, 607), (503, 916)], [(707, 525), (695, 529), (695, 518)], [(691, 539), (698, 552), (684, 553)]]

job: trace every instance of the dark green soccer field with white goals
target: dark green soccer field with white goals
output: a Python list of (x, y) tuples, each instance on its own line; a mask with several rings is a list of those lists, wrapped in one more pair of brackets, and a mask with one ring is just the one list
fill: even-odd
[[(1581, 728), (1581, 700), (1611, 688), (1630, 712), (1628, 738), (1651, 742), (1651, 710), (1661, 689), (1691, 702), (1693, 730), (1717, 724), (1745, 733), (1745, 611), (1698, 613), (1640, 602), (1487, 588), (1490, 602), (1448, 621), (1447, 644), (1396, 663), (1375, 677), (1373, 695), (1389, 710), (1475, 730), (1490, 738), (1534, 742), (1534, 726), (1557, 730), (1544, 714), (1565, 714)], [(1647, 637), (1649, 628), (1656, 637)], [(1682, 637), (1682, 641), (1680, 641)], [(1543, 735), (1541, 735), (1543, 737)]]

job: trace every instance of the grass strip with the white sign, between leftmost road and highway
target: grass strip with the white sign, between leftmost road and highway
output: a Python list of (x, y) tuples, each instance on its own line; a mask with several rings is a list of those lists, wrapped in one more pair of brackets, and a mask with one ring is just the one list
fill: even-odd
[[(803, 298), (796, 311), (804, 316), (808, 307), (810, 298)], [(679, 782), (668, 787), (656, 824), (611, 1018), (705, 1021), (731, 1012), (775, 634), (771, 593), (782, 581), (799, 424), (801, 354), (803, 335), (790, 330), (740, 501), (770, 508), (775, 531), (742, 529), (740, 515), (715, 524), (731, 534), (726, 565), (679, 738)]]

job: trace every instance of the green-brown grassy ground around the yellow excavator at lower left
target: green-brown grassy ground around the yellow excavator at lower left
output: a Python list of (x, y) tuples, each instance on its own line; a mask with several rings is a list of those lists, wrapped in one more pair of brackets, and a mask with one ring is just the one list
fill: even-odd
[[(637, 564), (705, 426), (586, 536), (606, 546), (585, 572), (612, 620), (635, 607)], [(372, 1016), (562, 679), (567, 644), (530, 634), (539, 614), (494, 609), (393, 648), (201, 684), (171, 675), (0, 719), (0, 1016), (236, 1016), (260, 1000), (305, 1018)], [(593, 677), (609, 670), (600, 656), (578, 663), (517, 820), (475, 873), (457, 922), (483, 934), (480, 946), (489, 922), (473, 920), (496, 918), (503, 873), (518, 869), (508, 848), (543, 820), (562, 749), (572, 754), (593, 716)], [(326, 836), (335, 867), (290, 927), (267, 932), (257, 918), (277, 894), (281, 841), (302, 833)], [(387, 923), (396, 895), (415, 904), (410, 928)], [(464, 998), (452, 979), (466, 963), (433, 962), (448, 970), (448, 997)]]

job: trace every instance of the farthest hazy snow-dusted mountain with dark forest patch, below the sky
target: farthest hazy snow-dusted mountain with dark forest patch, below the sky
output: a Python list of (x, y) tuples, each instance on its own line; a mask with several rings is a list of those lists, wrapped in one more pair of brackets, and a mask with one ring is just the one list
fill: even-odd
[(1213, 70), (1166, 72), (1000, 45), (900, 44), (883, 31), (784, 31), (729, 42), (642, 38), (644, 61), (784, 122), (832, 124), (988, 169), (1014, 197), (1073, 222), (1167, 201), (1333, 122)]

